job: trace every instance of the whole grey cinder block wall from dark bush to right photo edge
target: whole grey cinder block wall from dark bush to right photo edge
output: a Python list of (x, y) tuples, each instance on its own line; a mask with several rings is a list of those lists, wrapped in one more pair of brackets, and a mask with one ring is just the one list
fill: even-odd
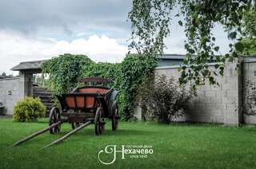
[[(241, 69), (236, 71), (236, 67)], [(214, 69), (211, 64), (210, 68)], [(155, 69), (155, 76), (174, 77), (178, 83), (179, 66), (165, 66)], [(221, 123), (226, 125), (256, 124), (256, 116), (247, 116), (246, 93), (250, 87), (246, 81), (252, 81), (256, 87), (256, 61), (239, 58), (226, 63), (224, 76), (216, 77), (220, 86), (205, 85), (198, 88), (198, 96), (190, 100), (189, 112), (183, 120), (193, 122)]]

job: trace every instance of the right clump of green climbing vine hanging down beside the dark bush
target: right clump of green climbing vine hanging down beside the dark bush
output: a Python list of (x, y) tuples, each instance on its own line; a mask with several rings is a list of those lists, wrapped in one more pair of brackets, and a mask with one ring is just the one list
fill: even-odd
[(118, 106), (119, 112), (125, 120), (134, 117), (134, 105), (136, 93), (142, 79), (149, 76), (157, 65), (155, 57), (142, 55), (127, 55), (120, 65), (116, 85), (119, 89)]

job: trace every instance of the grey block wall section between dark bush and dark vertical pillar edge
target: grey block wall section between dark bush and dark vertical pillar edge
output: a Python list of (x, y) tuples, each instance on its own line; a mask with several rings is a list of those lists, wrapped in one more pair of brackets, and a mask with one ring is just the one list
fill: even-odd
[[(205, 85), (198, 88), (198, 96), (190, 100), (189, 110), (183, 120), (194, 122), (222, 123), (227, 125), (238, 125), (242, 118), (242, 81), (239, 73), (235, 72), (238, 61), (225, 65), (224, 77), (216, 77), (220, 86)], [(214, 69), (214, 65), (210, 69)], [(166, 75), (167, 78), (174, 77), (178, 83), (178, 66), (158, 67), (155, 75)]]

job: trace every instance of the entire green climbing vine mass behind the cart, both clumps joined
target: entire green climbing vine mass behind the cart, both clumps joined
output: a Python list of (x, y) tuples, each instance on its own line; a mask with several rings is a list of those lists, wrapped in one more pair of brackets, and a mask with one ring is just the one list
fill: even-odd
[(42, 72), (49, 73), (48, 87), (54, 94), (70, 92), (82, 77), (104, 77), (114, 80), (118, 89), (118, 109), (122, 120), (134, 116), (134, 105), (138, 86), (143, 77), (154, 71), (155, 57), (129, 54), (122, 63), (94, 63), (84, 55), (65, 54), (53, 57), (42, 65)]

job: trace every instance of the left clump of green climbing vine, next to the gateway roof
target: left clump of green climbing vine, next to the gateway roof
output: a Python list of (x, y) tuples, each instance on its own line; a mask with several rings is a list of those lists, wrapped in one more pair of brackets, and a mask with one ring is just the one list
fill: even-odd
[(62, 94), (76, 87), (82, 71), (93, 63), (85, 55), (64, 54), (42, 64), (42, 73), (49, 73), (48, 88), (54, 94)]

